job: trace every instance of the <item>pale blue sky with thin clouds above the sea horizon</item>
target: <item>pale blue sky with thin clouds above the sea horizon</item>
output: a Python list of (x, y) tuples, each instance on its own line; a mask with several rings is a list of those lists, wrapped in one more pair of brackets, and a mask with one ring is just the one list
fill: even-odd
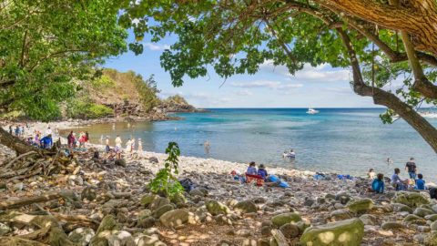
[(161, 90), (160, 97), (179, 94), (198, 108), (375, 107), (370, 97), (360, 97), (352, 92), (349, 69), (333, 69), (329, 65), (305, 66), (295, 76), (290, 76), (285, 67), (273, 67), (266, 62), (257, 74), (230, 77), (222, 87), (224, 79), (211, 69), (208, 77), (187, 77), (184, 86), (173, 87), (170, 76), (160, 67), (159, 56), (174, 41), (171, 37), (158, 44), (144, 41), (142, 55), (135, 56), (129, 51), (108, 59), (104, 67), (122, 72), (133, 70), (143, 77), (154, 74)]

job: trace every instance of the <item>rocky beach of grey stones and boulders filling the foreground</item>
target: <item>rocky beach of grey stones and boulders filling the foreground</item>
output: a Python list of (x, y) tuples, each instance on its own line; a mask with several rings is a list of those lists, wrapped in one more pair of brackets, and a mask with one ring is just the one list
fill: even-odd
[(178, 179), (191, 179), (193, 189), (170, 200), (147, 187), (166, 154), (105, 161), (93, 158), (96, 150), (103, 146), (89, 145), (64, 164), (17, 159), (2, 147), (2, 170), (32, 161), (56, 169), (13, 178), (2, 171), (0, 245), (437, 245), (437, 202), (428, 192), (396, 192), (386, 183), (375, 195), (369, 179), (269, 167), (290, 188), (257, 187), (230, 175), (247, 164), (180, 157)]

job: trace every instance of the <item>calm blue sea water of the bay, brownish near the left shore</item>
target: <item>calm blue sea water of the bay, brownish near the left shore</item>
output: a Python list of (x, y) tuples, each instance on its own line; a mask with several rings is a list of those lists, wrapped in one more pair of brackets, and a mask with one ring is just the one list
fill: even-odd
[[(143, 149), (164, 152), (169, 141), (179, 144), (182, 155), (230, 161), (263, 163), (269, 167), (310, 169), (363, 176), (370, 168), (391, 176), (414, 157), (425, 179), (437, 181), (437, 155), (402, 119), (384, 125), (381, 108), (211, 108), (208, 113), (177, 114), (182, 120), (97, 124), (88, 130), (91, 142), (119, 134), (142, 138)], [(437, 126), (437, 119), (429, 119)], [(204, 142), (208, 141), (207, 152)], [(295, 149), (296, 159), (282, 152)], [(386, 159), (393, 164), (388, 165)], [(229, 170), (230, 171), (230, 170)]]

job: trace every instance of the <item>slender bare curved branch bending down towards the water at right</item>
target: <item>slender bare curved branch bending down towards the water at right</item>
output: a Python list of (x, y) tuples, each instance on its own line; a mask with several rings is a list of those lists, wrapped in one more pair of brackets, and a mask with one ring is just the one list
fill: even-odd
[(402, 102), (399, 97), (381, 88), (366, 85), (362, 79), (360, 64), (351, 44), (350, 37), (343, 29), (337, 28), (336, 30), (340, 34), (341, 40), (348, 50), (351, 59), (353, 90), (355, 93), (363, 97), (373, 97), (375, 104), (394, 110), (394, 112), (407, 121), (437, 153), (437, 129), (432, 127), (430, 122), (422, 118), (422, 116), (408, 104)]

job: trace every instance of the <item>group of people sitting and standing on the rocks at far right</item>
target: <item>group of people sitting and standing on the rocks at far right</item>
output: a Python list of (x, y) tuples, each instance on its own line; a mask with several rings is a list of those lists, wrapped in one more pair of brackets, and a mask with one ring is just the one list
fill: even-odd
[[(407, 161), (405, 164), (405, 170), (408, 172), (409, 179), (401, 179), (401, 169), (394, 169), (390, 183), (395, 190), (427, 190), (422, 173), (417, 173), (418, 169), (414, 158)], [(384, 175), (382, 173), (376, 174), (373, 169), (370, 169), (368, 177), (373, 180), (371, 182), (371, 191), (375, 193), (383, 193), (385, 189)]]

